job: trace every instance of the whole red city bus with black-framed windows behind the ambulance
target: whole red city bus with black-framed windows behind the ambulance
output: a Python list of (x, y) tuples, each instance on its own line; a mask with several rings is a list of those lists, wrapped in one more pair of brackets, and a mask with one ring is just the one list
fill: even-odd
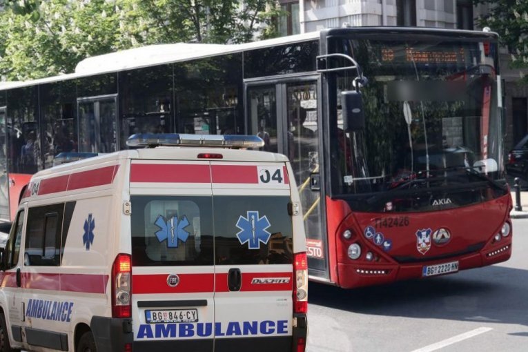
[(110, 153), (135, 133), (254, 134), (291, 159), (311, 280), (352, 288), (511, 255), (491, 32), (332, 28), (137, 48), (0, 86), (0, 119), (2, 218), (19, 197), (10, 183), (24, 183), (13, 175), (59, 153)]

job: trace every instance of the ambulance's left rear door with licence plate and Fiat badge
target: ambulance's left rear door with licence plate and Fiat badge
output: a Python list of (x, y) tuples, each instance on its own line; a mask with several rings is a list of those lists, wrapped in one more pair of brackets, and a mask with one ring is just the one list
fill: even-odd
[(208, 161), (133, 160), (134, 351), (213, 351)]

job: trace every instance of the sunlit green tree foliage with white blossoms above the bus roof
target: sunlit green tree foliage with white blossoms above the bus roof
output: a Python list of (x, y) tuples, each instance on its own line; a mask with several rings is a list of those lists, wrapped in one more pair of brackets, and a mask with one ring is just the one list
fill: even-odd
[[(1, 80), (69, 73), (86, 57), (158, 43), (240, 43), (275, 0), (0, 0)], [(264, 36), (273, 36), (273, 26)]]

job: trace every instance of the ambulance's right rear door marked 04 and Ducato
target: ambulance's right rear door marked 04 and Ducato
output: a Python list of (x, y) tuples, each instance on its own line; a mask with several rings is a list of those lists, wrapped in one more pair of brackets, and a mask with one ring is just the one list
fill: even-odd
[(211, 162), (215, 352), (291, 351), (293, 230), (284, 163)]

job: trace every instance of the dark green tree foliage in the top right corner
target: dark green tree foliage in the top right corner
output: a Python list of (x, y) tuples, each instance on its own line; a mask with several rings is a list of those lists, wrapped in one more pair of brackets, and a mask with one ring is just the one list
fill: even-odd
[(528, 1), (473, 0), (473, 3), (490, 4), (489, 12), (478, 17), (479, 26), (498, 32), (500, 42), (511, 53), (514, 67), (528, 67)]

